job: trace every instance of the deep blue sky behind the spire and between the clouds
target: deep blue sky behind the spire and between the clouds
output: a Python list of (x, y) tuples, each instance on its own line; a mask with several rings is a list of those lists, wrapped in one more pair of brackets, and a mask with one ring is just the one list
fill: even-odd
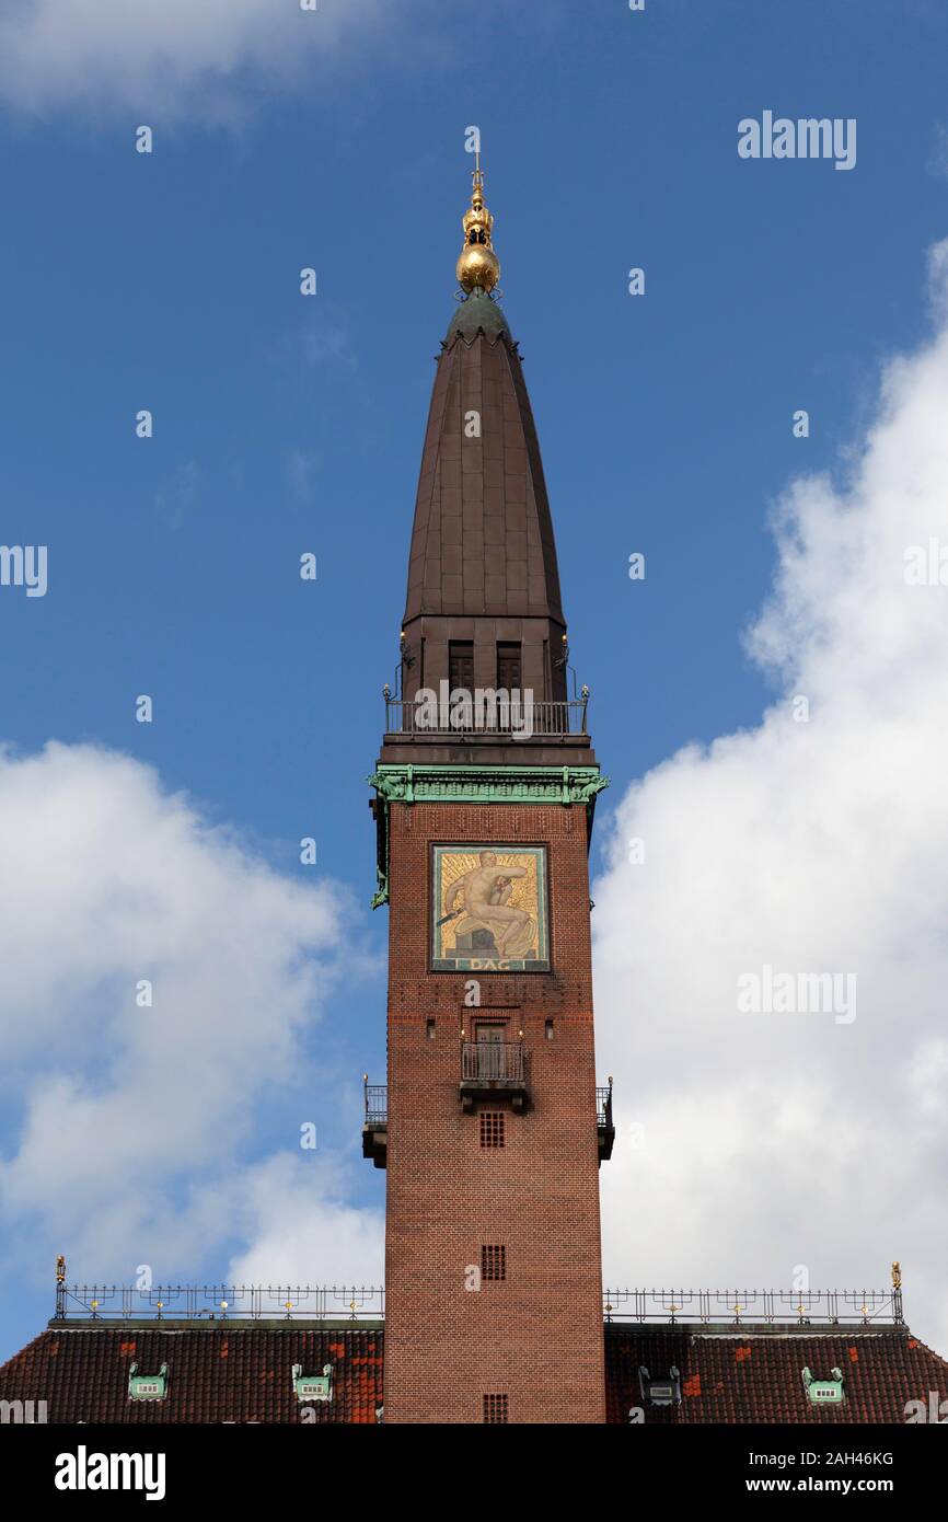
[[(167, 96), (146, 81), (140, 105), (108, 78), (75, 99), (58, 75), (46, 88), (41, 65), (29, 100), (0, 81), (0, 539), (49, 545), (49, 594), (0, 594), (0, 734), (18, 755), (58, 740), (148, 763), (306, 887), (297, 843), (315, 836), (317, 875), (347, 906), (352, 976), (327, 983), (297, 1078), (254, 1100), (248, 1164), (291, 1103), (341, 1158), (345, 1199), (382, 1205), (383, 1175), (353, 1163), (359, 1076), (385, 1064), (365, 778), (453, 309), (464, 128), (482, 132), (572, 661), (613, 781), (601, 872), (636, 778), (773, 702), (743, 647), (773, 581), (773, 504), (799, 472), (846, 473), (880, 365), (927, 329), (946, 46), (934, 3), (484, 0), (476, 21), (367, 8), (332, 49), (301, 44), (297, 72), (248, 47), (218, 76), (225, 110), (199, 79)], [(736, 123), (765, 108), (855, 117), (857, 167), (740, 160)], [(142, 122), (151, 155), (134, 151)], [(627, 294), (633, 265), (644, 298)], [(297, 575), (307, 549), (315, 584)], [(134, 721), (140, 693), (151, 726)], [(8, 1088), (8, 1160), (21, 1100)], [(55, 1224), (20, 1219), (3, 1352), (49, 1313), (59, 1245)], [(224, 1233), (213, 1262), (166, 1271), (215, 1277), (239, 1245)]]

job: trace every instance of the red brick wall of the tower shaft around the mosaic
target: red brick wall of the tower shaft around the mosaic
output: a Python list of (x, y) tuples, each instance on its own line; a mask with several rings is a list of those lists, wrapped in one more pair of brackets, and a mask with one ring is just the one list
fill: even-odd
[[(428, 973), (431, 845), (452, 840), (548, 846), (551, 974)], [(476, 1106), (505, 1111), (499, 1149), (458, 1096), (475, 1017), (526, 1050), (526, 1113)], [(481, 1423), (501, 1393), (511, 1423), (604, 1422), (584, 808), (391, 807), (388, 1117), (385, 1422)], [(507, 1278), (469, 1291), (487, 1243)]]

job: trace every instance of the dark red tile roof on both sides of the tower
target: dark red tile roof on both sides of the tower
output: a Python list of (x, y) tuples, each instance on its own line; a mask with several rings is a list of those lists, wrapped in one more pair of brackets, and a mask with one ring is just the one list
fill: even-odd
[[(304, 1420), (292, 1385), (333, 1365), (333, 1399), (306, 1420), (374, 1423), (382, 1403), (380, 1324), (332, 1329), (312, 1323), (50, 1326), (0, 1367), (2, 1400), (46, 1400), (47, 1420), (218, 1423)], [(129, 1400), (128, 1371), (154, 1374), (167, 1364), (167, 1399)], [(653, 1379), (677, 1367), (682, 1403), (642, 1402), (639, 1365)], [(846, 1400), (810, 1403), (808, 1367), (845, 1376)], [(873, 1423), (905, 1422), (908, 1400), (948, 1399), (948, 1362), (904, 1327), (711, 1329), (694, 1324), (606, 1326), (607, 1420), (627, 1423), (642, 1406), (648, 1423)]]

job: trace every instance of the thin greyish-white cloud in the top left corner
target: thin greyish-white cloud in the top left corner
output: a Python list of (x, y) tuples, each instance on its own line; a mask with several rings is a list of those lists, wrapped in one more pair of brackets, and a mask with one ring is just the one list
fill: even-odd
[(347, 35), (364, 44), (379, 14), (377, 0), (318, 0), (315, 12), (298, 0), (23, 0), (0, 6), (0, 93), (38, 114), (225, 116), (240, 82), (303, 81)]

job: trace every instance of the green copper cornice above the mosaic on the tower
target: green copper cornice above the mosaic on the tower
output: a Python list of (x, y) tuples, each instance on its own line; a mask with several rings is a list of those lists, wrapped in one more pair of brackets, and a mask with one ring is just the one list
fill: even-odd
[(414, 766), (380, 763), (368, 782), (377, 790), (379, 861), (373, 909), (388, 903), (390, 804), (584, 804), (592, 808), (609, 778), (595, 766)]

